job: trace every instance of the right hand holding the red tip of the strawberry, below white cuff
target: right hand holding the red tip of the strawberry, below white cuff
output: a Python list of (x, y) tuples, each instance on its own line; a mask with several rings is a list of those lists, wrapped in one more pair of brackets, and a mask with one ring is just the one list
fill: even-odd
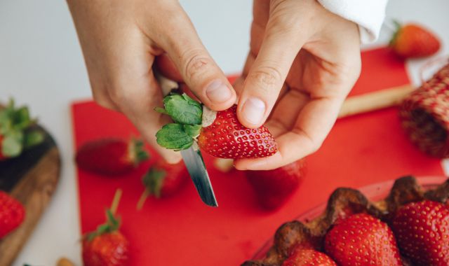
[(253, 16), (250, 52), (234, 85), (237, 115), (246, 127), (267, 121), (279, 152), (236, 160), (242, 170), (273, 169), (314, 153), (361, 69), (357, 25), (316, 0), (254, 0)]

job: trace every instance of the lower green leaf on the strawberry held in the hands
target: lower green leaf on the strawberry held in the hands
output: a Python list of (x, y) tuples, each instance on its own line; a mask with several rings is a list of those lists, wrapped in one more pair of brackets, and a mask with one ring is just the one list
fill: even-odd
[(194, 143), (194, 139), (185, 132), (183, 125), (175, 123), (164, 125), (156, 133), (156, 141), (160, 146), (175, 151), (185, 150)]

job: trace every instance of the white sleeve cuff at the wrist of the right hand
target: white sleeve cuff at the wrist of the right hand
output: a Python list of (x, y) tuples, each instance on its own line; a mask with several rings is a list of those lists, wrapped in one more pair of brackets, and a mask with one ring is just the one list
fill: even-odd
[(385, 18), (388, 0), (318, 0), (332, 13), (358, 24), (362, 43), (375, 41)]

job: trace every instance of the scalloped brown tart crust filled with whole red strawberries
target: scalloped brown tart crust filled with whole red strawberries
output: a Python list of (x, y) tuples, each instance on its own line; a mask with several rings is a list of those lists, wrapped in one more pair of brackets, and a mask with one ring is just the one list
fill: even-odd
[(282, 225), (266, 257), (242, 266), (447, 266), (448, 198), (449, 180), (424, 192), (410, 176), (398, 179), (378, 204), (339, 188), (323, 216)]

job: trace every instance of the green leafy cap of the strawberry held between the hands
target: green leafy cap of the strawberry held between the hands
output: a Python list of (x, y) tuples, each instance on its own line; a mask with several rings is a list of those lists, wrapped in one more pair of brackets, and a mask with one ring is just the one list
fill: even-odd
[(155, 111), (170, 116), (175, 123), (164, 125), (156, 133), (160, 146), (174, 151), (189, 148), (201, 132), (203, 106), (187, 94), (169, 94), (163, 98), (164, 109)]

